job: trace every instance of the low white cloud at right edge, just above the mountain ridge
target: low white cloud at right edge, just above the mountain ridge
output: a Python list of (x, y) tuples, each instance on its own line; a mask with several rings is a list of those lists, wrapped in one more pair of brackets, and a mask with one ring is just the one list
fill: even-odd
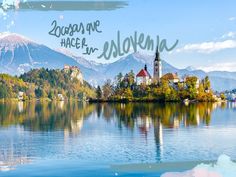
[(201, 69), (206, 72), (210, 71), (236, 71), (236, 62), (227, 62), (227, 63), (216, 63), (211, 66), (200, 66), (197, 69)]

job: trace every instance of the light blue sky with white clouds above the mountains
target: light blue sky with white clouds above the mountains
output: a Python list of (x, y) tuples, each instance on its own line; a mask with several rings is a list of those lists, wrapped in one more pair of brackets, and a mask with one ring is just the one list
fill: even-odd
[[(55, 0), (54, 0), (55, 1)], [(78, 0), (77, 0), (78, 1)], [(59, 26), (87, 24), (100, 21), (101, 33), (81, 34), (73, 37), (86, 38), (89, 46), (98, 48), (91, 55), (81, 49), (68, 49), (78, 56), (96, 62), (113, 62), (97, 58), (103, 52), (106, 41), (116, 41), (120, 31), (121, 42), (126, 37), (143, 33), (160, 40), (167, 46), (178, 40), (174, 50), (161, 52), (161, 58), (178, 68), (192, 66), (211, 70), (236, 71), (236, 1), (235, 0), (127, 0), (121, 8), (100, 10), (39, 10), (21, 9), (17, 5), (29, 0), (4, 0), (3, 4), (15, 4), (15, 9), (0, 9), (0, 32), (12, 32), (26, 36), (50, 48), (60, 48), (62, 38), (49, 35), (52, 22)], [(52, 2), (52, 1), (49, 1)], [(94, 1), (95, 2), (95, 1)], [(45, 7), (42, 1), (42, 8)], [(96, 3), (96, 2), (95, 2)], [(46, 4), (46, 3), (45, 3)], [(155, 51), (137, 49), (143, 54), (154, 55)], [(132, 53), (130, 48), (128, 54)]]

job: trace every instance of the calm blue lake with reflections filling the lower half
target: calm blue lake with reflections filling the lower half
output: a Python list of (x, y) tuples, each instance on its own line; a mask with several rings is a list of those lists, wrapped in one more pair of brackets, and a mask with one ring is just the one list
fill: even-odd
[[(0, 103), (0, 176), (160, 176), (235, 160), (235, 113), (235, 103)], [(170, 163), (180, 166), (160, 166)]]

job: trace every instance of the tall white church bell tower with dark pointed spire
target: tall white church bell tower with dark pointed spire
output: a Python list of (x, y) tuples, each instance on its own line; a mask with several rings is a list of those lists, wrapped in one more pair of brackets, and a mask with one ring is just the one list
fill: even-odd
[(161, 77), (162, 77), (162, 65), (161, 65), (160, 53), (159, 53), (158, 47), (157, 47), (156, 57), (154, 59), (154, 68), (153, 68), (154, 83), (159, 83)]

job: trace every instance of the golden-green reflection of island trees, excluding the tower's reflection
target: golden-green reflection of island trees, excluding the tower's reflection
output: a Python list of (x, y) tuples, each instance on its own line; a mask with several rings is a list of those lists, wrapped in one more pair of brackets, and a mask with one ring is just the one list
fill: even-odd
[[(209, 125), (211, 114), (217, 107), (224, 108), (225, 103), (199, 103), (185, 106), (183, 104), (115, 104), (103, 105), (106, 110), (114, 110), (119, 119), (120, 127), (133, 129), (135, 125), (141, 132), (146, 133), (151, 124), (160, 121), (165, 128), (178, 128), (180, 126), (199, 126), (201, 123)], [(111, 111), (109, 111), (112, 113)], [(106, 114), (106, 118), (113, 116)]]

